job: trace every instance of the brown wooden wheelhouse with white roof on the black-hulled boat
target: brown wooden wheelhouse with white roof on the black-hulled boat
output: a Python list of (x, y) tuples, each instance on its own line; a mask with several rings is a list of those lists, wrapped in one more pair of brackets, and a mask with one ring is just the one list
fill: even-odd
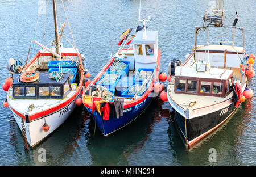
[(174, 92), (177, 94), (226, 97), (232, 85), (232, 70), (210, 68), (197, 72), (194, 67), (175, 68)]

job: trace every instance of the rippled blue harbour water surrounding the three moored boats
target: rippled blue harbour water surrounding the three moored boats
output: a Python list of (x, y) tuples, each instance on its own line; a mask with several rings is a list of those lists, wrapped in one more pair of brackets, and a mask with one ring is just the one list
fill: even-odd
[[(38, 18), (42, 7), (39, 2), (42, 1), (46, 2), (47, 11)], [(61, 17), (59, 23), (67, 22), (61, 1), (57, 2)], [(63, 2), (76, 46), (86, 57), (91, 79), (109, 60), (112, 50), (114, 53), (118, 50), (119, 36), (127, 28), (142, 26), (138, 22), (138, 0)], [(162, 71), (167, 73), (171, 59), (184, 60), (185, 55), (191, 52), (194, 26), (203, 25), (204, 11), (210, 8), (209, 5), (205, 0), (142, 1), (141, 17), (150, 16), (148, 29), (159, 31)], [(237, 25), (246, 28), (246, 51), (256, 54), (255, 1), (228, 0), (224, 7), (228, 19), (225, 23), (230, 26), (235, 12), (238, 12), (241, 22)], [(216, 31), (212, 32), (213, 38), (218, 37)], [(203, 33), (199, 39), (201, 43), (205, 40)], [(0, 83), (10, 77), (6, 69), (9, 58), (23, 64), (26, 62), (34, 35), (35, 40), (44, 45), (54, 38), (52, 1), (0, 1)], [(65, 35), (72, 41), (68, 25)], [(232, 32), (225, 29), (222, 35), (232, 37)], [(241, 33), (236, 32), (236, 42), (240, 45), (241, 39)], [(63, 43), (68, 45), (65, 41)], [(39, 49), (33, 45), (30, 58)], [(250, 79), (249, 87), (256, 92), (254, 83), (255, 78)], [(0, 100), (3, 102), (5, 98), (6, 92), (1, 88)], [(247, 99), (226, 124), (188, 153), (169, 118), (169, 103), (162, 102), (159, 97), (141, 117), (109, 137), (104, 137), (98, 129), (93, 136), (94, 121), (80, 106), (59, 129), (28, 154), (24, 151), (22, 133), (11, 111), (1, 104), (0, 165), (256, 165), (255, 103), (255, 97)], [(210, 149), (216, 150), (216, 161), (209, 161)], [(42, 152), (46, 153), (45, 162), (40, 161)]]

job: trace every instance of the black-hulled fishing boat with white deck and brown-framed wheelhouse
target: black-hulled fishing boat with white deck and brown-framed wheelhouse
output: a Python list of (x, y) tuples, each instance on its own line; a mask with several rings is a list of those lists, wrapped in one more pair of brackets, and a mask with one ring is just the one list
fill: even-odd
[[(220, 127), (245, 98), (253, 96), (247, 78), (254, 77), (255, 56), (245, 52), (245, 28), (236, 26), (238, 16), (232, 26), (224, 25), (222, 5), (217, 1), (216, 7), (205, 11), (205, 25), (195, 27), (195, 47), (184, 62), (172, 60), (169, 64), (168, 74), (173, 76), (167, 91), (171, 120), (177, 123), (187, 147)], [(210, 28), (233, 29), (233, 41), (210, 41)], [(207, 30), (205, 45), (197, 45), (201, 29)], [(234, 45), (235, 30), (242, 33), (242, 47)]]

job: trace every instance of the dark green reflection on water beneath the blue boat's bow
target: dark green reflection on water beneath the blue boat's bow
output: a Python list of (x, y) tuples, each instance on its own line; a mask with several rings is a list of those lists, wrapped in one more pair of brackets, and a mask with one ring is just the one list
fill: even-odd
[(139, 151), (148, 140), (157, 113), (155, 107), (158, 102), (153, 99), (147, 109), (147, 115), (141, 115), (140, 119), (127, 125), (120, 132), (115, 132), (112, 136), (102, 136), (100, 130), (96, 129), (94, 134), (94, 121), (89, 122), (89, 130), (86, 136), (90, 137), (86, 146), (90, 152), (93, 165), (132, 165), (133, 154)]

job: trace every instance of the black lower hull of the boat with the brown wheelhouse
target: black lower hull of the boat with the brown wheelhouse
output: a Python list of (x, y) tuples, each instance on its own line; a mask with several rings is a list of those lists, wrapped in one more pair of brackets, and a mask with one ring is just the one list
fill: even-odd
[[(237, 107), (234, 106), (234, 103), (229, 106), (222, 108), (216, 112), (212, 112), (203, 116), (195, 117), (192, 119), (186, 120), (187, 126), (187, 141), (188, 145), (191, 146), (196, 141), (201, 140), (208, 133), (212, 132), (214, 129), (219, 127), (221, 124), (228, 119), (228, 117), (232, 116), (236, 111)], [(181, 134), (185, 139), (185, 118), (180, 115), (174, 108), (170, 109), (171, 119), (175, 120)]]

